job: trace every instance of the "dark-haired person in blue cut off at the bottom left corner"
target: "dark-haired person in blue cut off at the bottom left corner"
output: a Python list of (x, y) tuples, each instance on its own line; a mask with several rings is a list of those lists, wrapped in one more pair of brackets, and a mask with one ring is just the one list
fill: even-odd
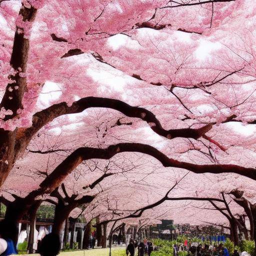
[(0, 221), (0, 256), (17, 254), (14, 245), (17, 232), (15, 223), (6, 220)]

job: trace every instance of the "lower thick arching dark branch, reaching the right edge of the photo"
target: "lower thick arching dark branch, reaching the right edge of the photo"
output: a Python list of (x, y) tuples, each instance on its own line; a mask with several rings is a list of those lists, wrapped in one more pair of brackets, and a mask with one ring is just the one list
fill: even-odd
[(156, 148), (141, 143), (119, 143), (110, 145), (105, 149), (93, 147), (80, 147), (67, 156), (40, 184), (43, 192), (54, 190), (76, 166), (82, 161), (99, 158), (109, 159), (120, 152), (140, 152), (151, 155), (159, 160), (164, 167), (177, 167), (190, 170), (194, 173), (226, 173), (234, 172), (256, 180), (256, 170), (234, 164), (194, 164), (182, 162), (167, 157)]

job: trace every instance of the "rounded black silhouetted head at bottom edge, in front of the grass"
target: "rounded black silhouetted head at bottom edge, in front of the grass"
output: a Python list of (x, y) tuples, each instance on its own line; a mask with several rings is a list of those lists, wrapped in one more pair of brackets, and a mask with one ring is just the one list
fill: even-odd
[(59, 236), (54, 233), (49, 233), (42, 238), (38, 253), (41, 256), (56, 256), (59, 253), (59, 250)]

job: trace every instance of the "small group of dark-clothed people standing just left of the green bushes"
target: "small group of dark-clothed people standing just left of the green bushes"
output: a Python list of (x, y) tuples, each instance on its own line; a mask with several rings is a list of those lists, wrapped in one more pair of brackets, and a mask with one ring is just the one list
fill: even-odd
[(150, 240), (144, 239), (139, 243), (137, 240), (130, 239), (129, 244), (126, 247), (126, 255), (134, 256), (135, 252), (138, 252), (138, 256), (150, 256), (154, 250), (153, 243)]

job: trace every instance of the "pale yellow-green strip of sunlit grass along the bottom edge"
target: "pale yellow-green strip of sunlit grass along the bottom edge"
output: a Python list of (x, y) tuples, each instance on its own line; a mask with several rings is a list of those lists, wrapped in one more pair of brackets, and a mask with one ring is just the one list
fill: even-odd
[[(126, 256), (125, 248), (112, 248), (112, 256)], [(93, 249), (93, 250), (77, 250), (77, 251), (67, 251), (60, 252), (59, 256), (108, 256), (109, 248), (106, 249)], [(38, 254), (25, 254), (36, 256)]]

